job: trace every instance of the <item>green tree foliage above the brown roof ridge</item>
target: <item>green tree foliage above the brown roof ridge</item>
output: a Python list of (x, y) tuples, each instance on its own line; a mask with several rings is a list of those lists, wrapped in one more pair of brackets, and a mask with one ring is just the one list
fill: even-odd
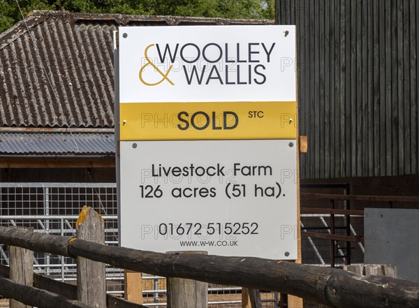
[(0, 32), (32, 10), (273, 19), (274, 0), (0, 0)]

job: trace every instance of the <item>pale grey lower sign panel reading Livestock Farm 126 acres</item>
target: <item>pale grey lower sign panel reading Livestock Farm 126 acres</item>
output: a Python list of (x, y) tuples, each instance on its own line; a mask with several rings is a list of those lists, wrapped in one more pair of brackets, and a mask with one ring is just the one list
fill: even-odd
[(122, 142), (122, 246), (297, 258), (294, 142)]

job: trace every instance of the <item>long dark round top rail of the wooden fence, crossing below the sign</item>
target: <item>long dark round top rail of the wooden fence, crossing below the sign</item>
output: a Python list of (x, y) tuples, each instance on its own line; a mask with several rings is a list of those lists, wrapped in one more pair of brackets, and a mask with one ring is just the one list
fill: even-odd
[(80, 256), (163, 277), (277, 291), (331, 307), (413, 308), (419, 305), (419, 286), (414, 281), (362, 277), (329, 267), (263, 258), (159, 254), (6, 227), (0, 227), (0, 244), (73, 258)]

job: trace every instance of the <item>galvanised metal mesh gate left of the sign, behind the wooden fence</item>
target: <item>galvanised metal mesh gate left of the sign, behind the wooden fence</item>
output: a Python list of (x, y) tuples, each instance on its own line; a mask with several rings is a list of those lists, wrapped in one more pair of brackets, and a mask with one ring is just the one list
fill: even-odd
[[(1, 183), (0, 226), (26, 226), (35, 232), (75, 236), (75, 221), (83, 205), (105, 219), (106, 244), (118, 244), (116, 184)], [(53, 279), (75, 281), (75, 260), (35, 252), (34, 270)], [(0, 245), (0, 262), (8, 265), (8, 249)], [(108, 289), (121, 293), (123, 270), (107, 268)]]

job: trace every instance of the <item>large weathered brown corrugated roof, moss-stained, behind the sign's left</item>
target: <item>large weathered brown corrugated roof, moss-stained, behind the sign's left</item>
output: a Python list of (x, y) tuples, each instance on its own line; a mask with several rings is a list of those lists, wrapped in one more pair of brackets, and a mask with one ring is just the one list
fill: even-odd
[(112, 31), (118, 25), (269, 23), (34, 12), (0, 34), (0, 126), (112, 128)]

